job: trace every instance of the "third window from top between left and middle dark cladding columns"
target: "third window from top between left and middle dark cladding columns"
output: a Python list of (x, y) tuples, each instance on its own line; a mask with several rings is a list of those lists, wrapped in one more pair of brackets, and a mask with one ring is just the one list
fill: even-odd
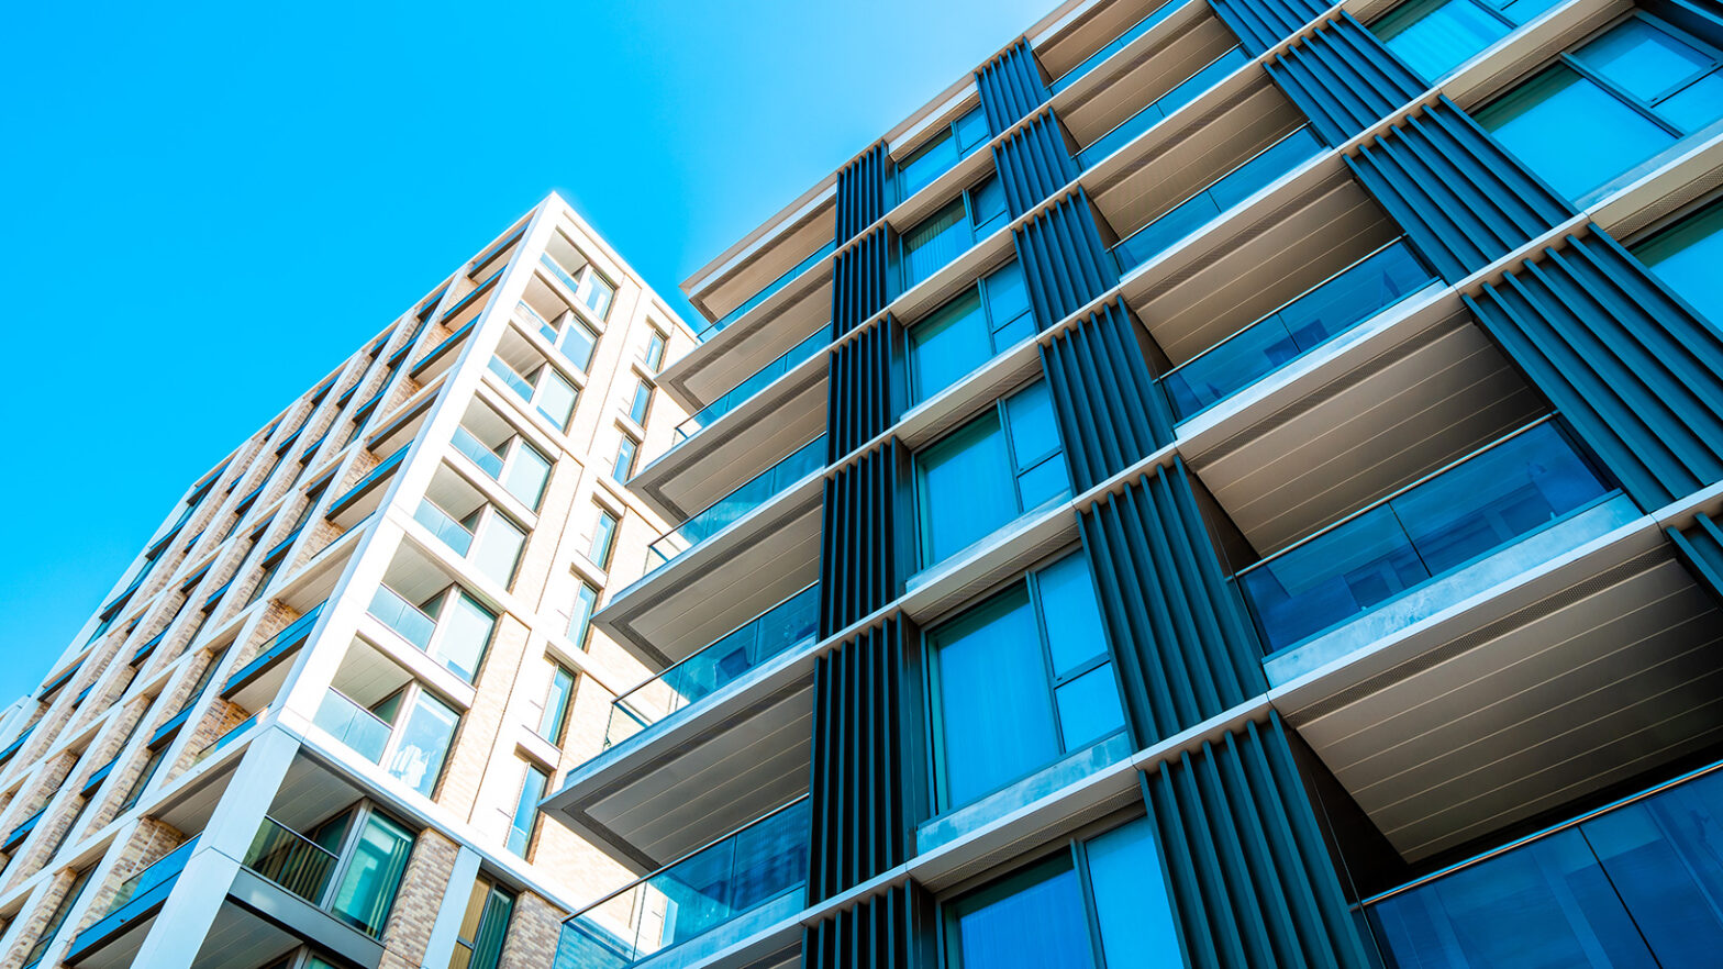
[(1036, 333), (1023, 271), (1013, 260), (910, 328), (910, 381), (927, 400)]

